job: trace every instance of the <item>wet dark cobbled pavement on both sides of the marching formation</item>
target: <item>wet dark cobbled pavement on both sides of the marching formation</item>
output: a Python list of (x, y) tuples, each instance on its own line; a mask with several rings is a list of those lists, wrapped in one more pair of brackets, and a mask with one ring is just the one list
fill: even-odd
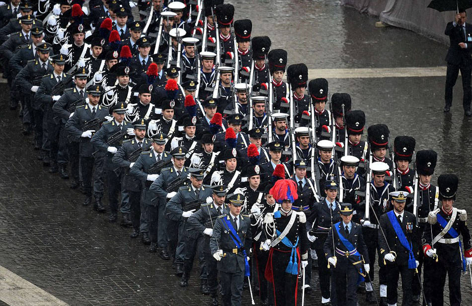
[[(255, 9), (254, 2), (260, 3)], [(375, 28), (375, 18), (339, 2), (232, 3), (235, 19), (249, 17), (252, 35), (268, 35), (272, 48), (286, 49), (289, 64), (304, 62), (310, 69), (445, 65), (447, 46), (410, 31)], [(349, 93), (352, 108), (366, 112), (367, 126), (388, 124), (392, 143), (396, 135), (411, 135), (417, 150), (436, 150), (433, 182), (441, 173), (456, 173), (457, 206), (471, 215), (472, 120), (463, 116), (460, 87), (451, 113), (444, 114), (445, 77), (328, 81), (329, 96)], [(5, 84), (0, 88), (7, 92)], [(69, 305), (208, 305), (195, 275), (188, 288), (180, 288), (168, 262), (129, 238), (129, 229), (83, 207), (82, 195), (69, 188), (70, 182), (48, 174), (36, 160), (32, 137), (21, 135), (20, 120), (16, 111), (8, 110), (7, 97), (2, 95), (0, 101), (0, 265)], [(316, 271), (313, 274), (316, 288)], [(469, 275), (462, 277), (464, 305), (472, 302), (469, 282)], [(359, 300), (365, 305), (363, 293)], [(307, 306), (319, 302), (319, 289), (306, 298)], [(243, 305), (250, 305), (247, 290)]]

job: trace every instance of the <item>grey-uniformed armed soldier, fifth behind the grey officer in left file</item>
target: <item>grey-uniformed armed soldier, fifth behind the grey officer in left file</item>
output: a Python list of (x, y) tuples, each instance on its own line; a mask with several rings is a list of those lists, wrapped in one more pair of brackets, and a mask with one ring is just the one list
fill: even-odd
[[(141, 152), (147, 151), (151, 146), (152, 140), (146, 137), (146, 121), (138, 119), (133, 122), (133, 131), (135, 137), (123, 141), (123, 145), (112, 158), (113, 163), (118, 163), (121, 168), (121, 213), (123, 219), (121, 225), (133, 227), (131, 238), (139, 236), (140, 216), (141, 216), (141, 182), (132, 176), (130, 169), (138, 160)], [(160, 139), (159, 139), (160, 140)], [(158, 140), (158, 141), (159, 141)]]

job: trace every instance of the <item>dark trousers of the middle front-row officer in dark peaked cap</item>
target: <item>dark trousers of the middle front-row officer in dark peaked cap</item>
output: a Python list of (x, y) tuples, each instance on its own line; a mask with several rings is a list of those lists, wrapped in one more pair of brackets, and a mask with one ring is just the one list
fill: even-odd
[[(357, 305), (357, 280), (359, 274), (356, 268), (340, 256), (336, 267), (332, 270), (333, 294), (331, 295), (332, 306), (356, 306)], [(345, 260), (347, 261), (347, 260)], [(335, 294), (334, 294), (335, 292)]]

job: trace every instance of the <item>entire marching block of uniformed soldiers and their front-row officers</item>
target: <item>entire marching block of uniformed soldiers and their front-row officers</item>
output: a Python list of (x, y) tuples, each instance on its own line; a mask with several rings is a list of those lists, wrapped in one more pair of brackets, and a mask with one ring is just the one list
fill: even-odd
[(82, 5), (0, 7), (9, 106), (49, 173), (181, 287), (214, 306), (297, 305), (318, 273), (317, 304), (442, 306), (447, 277), (461, 305), (471, 235), (457, 176), (431, 182), (435, 151), (366, 127), (223, 0)]

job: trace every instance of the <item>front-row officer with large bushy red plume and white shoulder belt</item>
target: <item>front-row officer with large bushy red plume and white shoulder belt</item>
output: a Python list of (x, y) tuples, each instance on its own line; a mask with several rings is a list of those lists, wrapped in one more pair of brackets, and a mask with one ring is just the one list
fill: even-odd
[(308, 265), (307, 218), (292, 209), (298, 199), (294, 181), (278, 180), (270, 194), (280, 210), (264, 218), (266, 240), (261, 247), (269, 251), (265, 277), (273, 285), (276, 305), (297, 305), (298, 271)]

